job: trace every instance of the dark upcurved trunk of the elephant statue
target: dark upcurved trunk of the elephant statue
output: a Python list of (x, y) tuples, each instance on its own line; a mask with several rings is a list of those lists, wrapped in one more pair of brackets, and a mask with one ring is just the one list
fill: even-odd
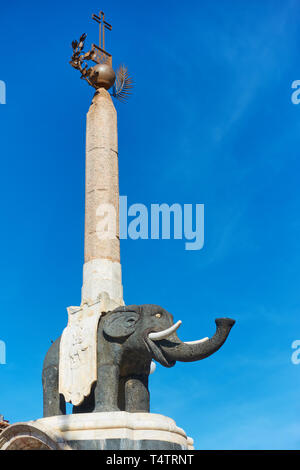
[(235, 320), (231, 318), (217, 318), (215, 322), (217, 329), (211, 338), (184, 343), (176, 334), (173, 334), (159, 341), (159, 347), (168, 361), (193, 362), (205, 359), (224, 344), (235, 324)]

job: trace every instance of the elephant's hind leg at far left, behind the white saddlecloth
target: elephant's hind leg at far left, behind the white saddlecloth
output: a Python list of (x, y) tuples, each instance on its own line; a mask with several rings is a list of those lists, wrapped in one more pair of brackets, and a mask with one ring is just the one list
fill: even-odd
[(49, 366), (43, 369), (43, 404), (44, 418), (66, 414), (66, 402), (58, 393), (58, 367)]

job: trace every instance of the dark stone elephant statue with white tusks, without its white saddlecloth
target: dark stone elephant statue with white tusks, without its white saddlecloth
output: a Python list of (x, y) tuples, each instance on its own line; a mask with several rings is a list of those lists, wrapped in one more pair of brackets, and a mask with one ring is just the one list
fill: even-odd
[[(176, 361), (191, 362), (216, 352), (225, 342), (235, 321), (218, 318), (211, 338), (184, 343), (173, 316), (158, 305), (129, 305), (102, 315), (97, 331), (97, 381), (73, 413), (99, 411), (149, 412), (148, 376), (154, 359), (165, 367)], [(43, 365), (44, 417), (66, 413), (59, 394), (58, 338)]]

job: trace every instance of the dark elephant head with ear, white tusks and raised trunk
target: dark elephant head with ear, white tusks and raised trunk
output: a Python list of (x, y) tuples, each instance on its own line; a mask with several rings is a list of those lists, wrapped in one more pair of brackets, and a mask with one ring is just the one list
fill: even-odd
[[(216, 352), (225, 342), (235, 321), (231, 318), (215, 320), (217, 329), (211, 338), (182, 342), (176, 330), (181, 321), (158, 305), (129, 305), (114, 310), (104, 324), (104, 332), (114, 338), (127, 338), (133, 348), (146, 347), (148, 354), (165, 367), (176, 361), (192, 362)], [(143, 345), (143, 346), (142, 346)]]

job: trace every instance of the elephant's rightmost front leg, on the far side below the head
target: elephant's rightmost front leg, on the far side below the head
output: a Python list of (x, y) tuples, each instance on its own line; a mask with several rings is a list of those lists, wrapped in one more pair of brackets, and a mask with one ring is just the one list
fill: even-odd
[(130, 375), (125, 383), (125, 410), (130, 413), (149, 413), (148, 375)]

